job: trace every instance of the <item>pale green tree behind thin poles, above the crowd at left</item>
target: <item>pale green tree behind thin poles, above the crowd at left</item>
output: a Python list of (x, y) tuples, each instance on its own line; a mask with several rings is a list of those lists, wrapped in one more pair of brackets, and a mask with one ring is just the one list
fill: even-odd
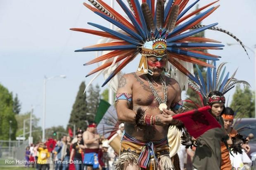
[[(28, 139), (29, 137), (29, 127), (30, 127), (30, 112), (24, 113), (24, 114), (19, 114), (19, 115), (15, 115), (15, 118), (17, 120), (17, 132), (16, 132), (16, 136), (18, 137), (23, 137), (23, 123), (24, 120), (27, 119), (27, 121), (25, 121), (25, 137), (26, 139)], [(42, 141), (42, 128), (38, 126), (38, 122), (40, 120), (40, 118), (36, 118), (35, 115), (32, 115), (32, 137), (33, 137), (33, 143), (37, 143), (37, 142), (41, 142)]]

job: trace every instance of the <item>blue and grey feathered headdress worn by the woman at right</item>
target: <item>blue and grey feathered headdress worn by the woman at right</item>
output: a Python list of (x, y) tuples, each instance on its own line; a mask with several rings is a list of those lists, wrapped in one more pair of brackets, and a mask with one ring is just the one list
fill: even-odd
[(196, 81), (189, 82), (189, 86), (192, 87), (193, 90), (200, 92), (204, 98), (207, 98), (209, 93), (213, 91), (221, 92), (224, 95), (230, 89), (235, 87), (235, 84), (237, 83), (250, 85), (247, 81), (237, 80), (235, 78), (237, 70), (232, 76), (229, 76), (229, 72), (225, 75), (226, 67), (223, 69), (225, 64), (227, 64), (227, 62), (221, 63), (216, 69), (216, 62), (213, 61), (213, 66), (215, 66), (215, 68), (207, 68), (206, 80), (204, 79), (201, 70), (196, 65), (198, 75), (195, 74), (194, 79)]

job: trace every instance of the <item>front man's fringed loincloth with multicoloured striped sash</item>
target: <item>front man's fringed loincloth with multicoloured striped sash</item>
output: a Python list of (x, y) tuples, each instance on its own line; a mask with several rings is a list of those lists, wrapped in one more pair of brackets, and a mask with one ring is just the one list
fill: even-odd
[(142, 141), (124, 134), (119, 158), (113, 165), (116, 170), (125, 170), (128, 165), (147, 170), (174, 170), (169, 152), (167, 139)]

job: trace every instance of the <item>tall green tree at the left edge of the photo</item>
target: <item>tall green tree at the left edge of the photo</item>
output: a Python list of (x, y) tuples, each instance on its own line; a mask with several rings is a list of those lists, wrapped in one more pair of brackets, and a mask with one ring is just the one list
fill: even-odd
[(11, 127), (11, 139), (15, 139), (17, 121), (13, 112), (12, 93), (0, 84), (0, 140), (9, 139)]

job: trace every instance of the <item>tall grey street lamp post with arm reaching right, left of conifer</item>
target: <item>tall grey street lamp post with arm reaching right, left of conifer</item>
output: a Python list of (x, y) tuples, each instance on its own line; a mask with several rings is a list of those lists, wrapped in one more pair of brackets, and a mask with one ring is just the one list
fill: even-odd
[(46, 103), (46, 96), (45, 96), (45, 88), (46, 88), (46, 81), (47, 80), (51, 80), (53, 78), (57, 78), (57, 77), (61, 77), (61, 78), (66, 78), (65, 75), (59, 75), (59, 76), (52, 76), (50, 78), (47, 78), (46, 76), (44, 77), (44, 81), (43, 81), (43, 133), (42, 133), (42, 141), (45, 142), (45, 103)]

